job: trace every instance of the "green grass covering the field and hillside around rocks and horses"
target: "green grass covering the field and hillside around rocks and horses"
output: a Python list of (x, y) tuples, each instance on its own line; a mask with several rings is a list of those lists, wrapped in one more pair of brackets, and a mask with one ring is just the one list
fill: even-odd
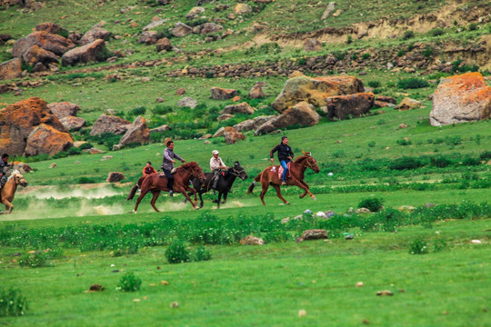
[[(95, 5), (60, 0), (47, 1), (33, 13), (18, 6), (0, 11), (0, 30), (17, 39), (42, 22), (85, 33), (105, 21), (107, 30), (121, 36), (111, 38), (108, 48), (134, 52), (115, 64), (60, 65), (57, 73), (8, 81), (34, 79), (43, 84), (23, 87), (21, 96), (2, 94), (5, 104), (29, 96), (48, 103), (79, 104), (78, 115), (88, 126), (73, 134), (75, 141), (85, 140), (89, 143), (85, 147), (94, 145), (107, 153), (70, 149), (51, 158), (23, 158), (35, 169), (25, 175), (30, 186), (16, 194), (14, 213), (0, 216), (0, 280), (5, 288), (0, 291), (0, 315), (24, 316), (5, 317), (3, 322), (36, 327), (155, 322), (169, 326), (490, 325), (489, 122), (438, 128), (428, 119), (428, 95), (434, 93), (440, 77), (468, 71), (489, 75), (480, 53), (450, 56), (444, 51), (472, 48), (486, 38), (489, 23), (476, 24), (476, 13), (486, 12), (487, 2), (342, 0), (336, 1), (340, 15), (325, 21), (320, 17), (327, 4), (319, 1), (277, 0), (267, 5), (246, 1), (253, 12), (234, 20), (225, 19), (232, 8), (219, 12), (216, 3), (205, 2), (206, 18), (186, 20), (195, 3), (177, 0), (159, 6), (154, 0), (110, 0)], [(235, 5), (232, 0), (220, 3)], [(196, 26), (223, 19), (220, 24), (235, 32), (225, 38), (213, 35), (215, 41), (205, 43), (204, 35), (170, 37), (181, 52), (159, 54), (155, 46), (137, 43), (142, 28), (155, 15), (168, 18), (158, 28), (168, 37), (168, 28), (177, 21)], [(438, 27), (426, 15), (436, 15), (446, 21), (446, 27)], [(267, 25), (257, 32), (253, 26), (262, 22)], [(353, 25), (379, 23), (362, 38), (350, 32)], [(322, 50), (303, 49), (308, 33), (331, 27), (336, 31), (318, 34)], [(0, 46), (0, 61), (10, 59), (4, 51), (9, 47)], [(410, 64), (388, 70), (386, 54)], [(334, 57), (341, 64), (316, 72), (309, 68), (316, 57)], [(446, 73), (428, 74), (426, 66), (413, 67), (411, 58), (416, 57), (451, 65)], [(373, 109), (358, 119), (323, 118), (314, 127), (286, 130), (296, 155), (310, 151), (319, 163), (321, 173), (306, 171), (306, 182), (318, 201), (298, 199), (298, 188), (285, 187), (282, 193), (291, 205), (278, 205), (274, 191), (269, 191), (263, 207), (259, 191), (247, 196), (246, 189), (268, 164), (269, 150), (280, 135), (246, 133), (245, 141), (233, 145), (222, 138), (211, 139), (212, 144), (195, 138), (250, 118), (235, 115), (217, 122), (220, 111), (232, 101), (210, 99), (211, 87), (237, 89), (243, 101), (256, 107), (253, 116), (257, 116), (275, 114), (271, 103), (287, 79), (278, 69), (261, 76), (220, 77), (214, 65), (247, 64), (267, 70), (273, 64), (289, 67), (291, 63), (292, 69), (311, 76), (353, 74), (375, 94), (393, 96), (397, 102), (409, 96), (423, 107), (407, 112)], [(192, 68), (205, 68), (205, 74), (175, 77), (175, 72)], [(415, 71), (406, 73), (404, 68)], [(121, 79), (106, 78), (108, 74)], [(266, 97), (248, 98), (249, 89), (260, 81), (266, 82)], [(175, 94), (179, 87), (185, 88), (185, 95)], [(176, 106), (183, 96), (195, 98), (195, 109)], [(156, 103), (157, 98), (164, 103)], [(110, 151), (118, 136), (89, 135), (95, 119), (107, 109), (129, 121), (143, 115), (150, 128), (170, 124), (173, 129), (151, 134), (151, 144)], [(218, 149), (225, 163), (240, 161), (249, 179), (235, 182), (220, 210), (211, 203), (213, 195), (206, 193), (200, 211), (181, 203), (181, 196), (162, 196), (157, 207), (164, 213), (154, 213), (147, 195), (138, 214), (127, 213), (135, 202), (126, 202), (126, 194), (146, 161), (160, 165), (167, 136), (176, 140), (177, 154), (196, 161), (205, 171), (211, 151)], [(102, 160), (105, 155), (113, 158)], [(56, 168), (48, 169), (51, 163)], [(107, 173), (114, 171), (124, 173), (128, 183), (94, 184), (105, 183)], [(385, 209), (376, 212), (382, 205)], [(376, 213), (350, 210), (357, 207)], [(304, 214), (306, 209), (314, 214)], [(329, 219), (316, 215), (327, 210), (335, 213)], [(295, 242), (313, 228), (326, 229), (329, 239)], [(346, 240), (351, 234), (354, 239)], [(266, 245), (240, 245), (247, 235), (261, 237)], [(357, 282), (364, 286), (356, 287)], [(103, 285), (105, 291), (87, 292), (93, 284)], [(395, 295), (376, 296), (384, 290)]]

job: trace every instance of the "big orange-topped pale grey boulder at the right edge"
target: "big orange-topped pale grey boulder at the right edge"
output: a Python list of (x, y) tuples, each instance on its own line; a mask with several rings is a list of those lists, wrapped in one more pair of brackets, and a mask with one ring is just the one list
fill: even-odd
[(491, 115), (491, 86), (480, 73), (442, 78), (433, 94), (432, 126), (488, 119)]

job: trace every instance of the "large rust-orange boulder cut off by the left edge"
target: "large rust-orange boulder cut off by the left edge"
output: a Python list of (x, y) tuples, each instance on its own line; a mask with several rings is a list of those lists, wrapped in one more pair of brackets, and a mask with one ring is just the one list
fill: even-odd
[(0, 149), (8, 154), (24, 154), (27, 138), (40, 124), (63, 134), (67, 132), (55, 114), (51, 114), (46, 102), (38, 97), (0, 109)]

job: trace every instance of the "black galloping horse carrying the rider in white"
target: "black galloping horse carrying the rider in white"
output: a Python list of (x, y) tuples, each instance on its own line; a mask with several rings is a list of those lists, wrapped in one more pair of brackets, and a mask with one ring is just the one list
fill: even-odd
[[(201, 194), (206, 193), (212, 189), (213, 179), (215, 177), (215, 173), (205, 173), (206, 180), (205, 182), (199, 181), (197, 178), (193, 179), (193, 186), (195, 187), (196, 192), (199, 195), (200, 204), (199, 207), (203, 208), (203, 197)], [(247, 173), (244, 168), (240, 165), (238, 161), (234, 163), (233, 167), (225, 170), (223, 175), (220, 175), (218, 179), (218, 183), (216, 184), (216, 191), (218, 191), (218, 198), (214, 200), (217, 203), (217, 208), (220, 207), (220, 201), (222, 199), (222, 195), (224, 196), (224, 202), (226, 203), (226, 197), (232, 188), (232, 184), (235, 182), (235, 178), (239, 177), (243, 181), (247, 179)], [(188, 193), (191, 195), (191, 193)]]

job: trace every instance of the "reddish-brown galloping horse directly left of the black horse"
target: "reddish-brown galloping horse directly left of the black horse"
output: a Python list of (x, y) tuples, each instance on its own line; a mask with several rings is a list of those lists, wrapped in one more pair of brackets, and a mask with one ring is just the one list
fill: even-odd
[[(193, 207), (195, 209), (199, 209), (199, 207), (195, 203), (197, 202), (196, 191), (193, 187), (189, 186), (189, 180), (192, 177), (198, 178), (202, 181), (205, 180), (205, 175), (203, 174), (203, 170), (197, 163), (195, 162), (184, 163), (179, 168), (177, 168), (174, 173), (174, 192), (183, 193), (185, 199), (189, 201), (191, 204), (193, 204)], [(136, 213), (136, 209), (138, 209), (138, 205), (144, 198), (145, 194), (148, 192), (152, 192), (153, 194), (152, 201), (150, 202), (150, 204), (152, 205), (154, 210), (158, 213), (159, 211), (155, 207), (155, 202), (158, 199), (158, 196), (160, 195), (161, 191), (169, 191), (167, 187), (167, 178), (160, 177), (158, 173), (151, 173), (148, 176), (146, 176), (144, 181), (142, 182), (140, 196), (138, 196), (138, 199), (136, 199), (134, 213)], [(136, 191), (132, 190), (133, 194), (130, 193), (126, 200), (133, 199), (135, 192)], [(195, 202), (191, 200), (191, 198), (189, 197), (189, 195), (187, 195), (186, 192), (195, 193)]]

